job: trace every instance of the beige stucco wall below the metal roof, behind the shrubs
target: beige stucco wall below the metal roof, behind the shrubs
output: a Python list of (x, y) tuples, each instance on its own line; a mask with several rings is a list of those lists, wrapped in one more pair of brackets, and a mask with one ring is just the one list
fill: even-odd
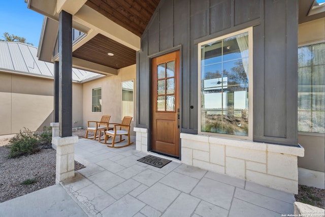
[[(82, 84), (73, 83), (73, 127), (82, 126)], [(53, 79), (0, 72), (0, 135), (53, 122)]]

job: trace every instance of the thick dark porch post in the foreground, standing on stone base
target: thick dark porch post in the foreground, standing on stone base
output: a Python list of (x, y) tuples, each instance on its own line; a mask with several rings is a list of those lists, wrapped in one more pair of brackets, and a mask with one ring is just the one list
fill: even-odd
[(72, 136), (72, 15), (59, 14), (59, 136)]

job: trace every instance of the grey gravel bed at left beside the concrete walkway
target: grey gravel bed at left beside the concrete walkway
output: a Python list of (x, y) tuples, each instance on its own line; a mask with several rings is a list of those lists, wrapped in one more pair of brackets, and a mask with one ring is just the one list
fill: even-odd
[[(55, 184), (56, 151), (53, 148), (8, 159), (9, 139), (0, 140), (0, 203)], [(84, 166), (75, 161), (75, 170)], [(32, 184), (21, 184), (26, 179)]]

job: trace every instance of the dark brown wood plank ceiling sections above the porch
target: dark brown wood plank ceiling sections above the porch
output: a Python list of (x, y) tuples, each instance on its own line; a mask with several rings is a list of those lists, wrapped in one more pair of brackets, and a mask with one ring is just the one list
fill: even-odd
[[(141, 37), (160, 0), (88, 0), (85, 4)], [(108, 56), (107, 53), (114, 53)], [(136, 51), (101, 34), (73, 52), (73, 56), (120, 69), (136, 64)]]

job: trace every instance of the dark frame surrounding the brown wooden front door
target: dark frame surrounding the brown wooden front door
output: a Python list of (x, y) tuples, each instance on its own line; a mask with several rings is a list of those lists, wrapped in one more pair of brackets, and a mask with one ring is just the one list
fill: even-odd
[[(152, 151), (151, 150), (151, 121), (152, 121), (152, 115), (151, 115), (151, 60), (155, 57), (158, 57), (158, 56), (163, 56), (165, 54), (168, 54), (168, 53), (173, 53), (173, 52), (176, 52), (176, 51), (179, 51), (179, 82), (178, 82), (178, 85), (179, 85), (179, 133), (182, 132), (182, 45), (178, 45), (178, 46), (175, 46), (175, 47), (172, 47), (172, 48), (169, 48), (169, 49), (166, 49), (166, 50), (163, 50), (163, 51), (160, 51), (158, 53), (154, 53), (154, 54), (151, 54), (151, 55), (148, 55), (148, 59), (149, 59), (149, 63), (148, 63), (148, 70), (149, 70), (149, 103), (148, 103), (148, 112), (149, 112), (149, 123), (148, 123), (148, 138), (147, 138), (147, 151)], [(172, 157), (172, 156), (169, 156), (168, 154), (164, 154), (164, 153), (160, 153), (160, 152), (155, 152), (155, 151), (152, 151), (154, 153), (158, 153), (158, 154), (161, 154), (161, 155), (164, 155), (164, 156), (168, 156), (168, 157), (171, 157), (171, 158), (175, 158), (175, 159), (178, 159), (178, 160), (181, 160), (181, 147), (182, 147), (182, 143), (181, 143), (181, 139), (179, 139), (179, 157), (178, 158), (175, 158), (175, 157)]]

